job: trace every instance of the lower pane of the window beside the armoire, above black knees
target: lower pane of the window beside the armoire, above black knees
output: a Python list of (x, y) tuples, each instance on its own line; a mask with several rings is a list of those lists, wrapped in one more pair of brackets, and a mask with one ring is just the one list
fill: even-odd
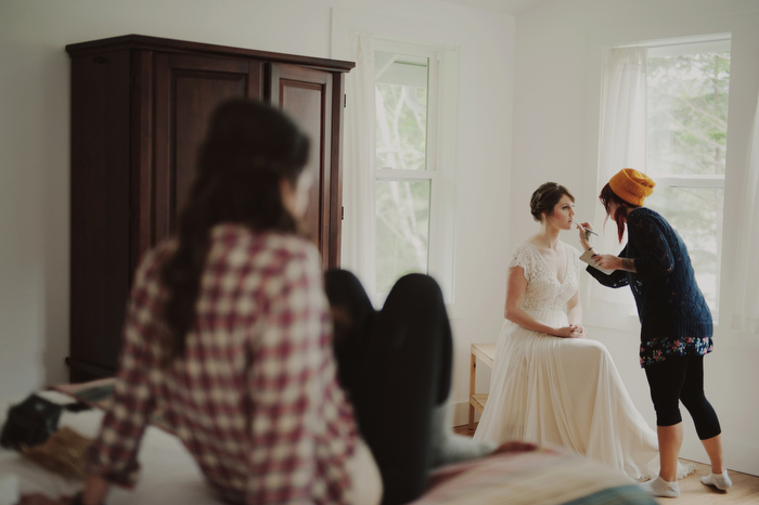
[(376, 181), (377, 293), (411, 272), (427, 273), (429, 181)]

